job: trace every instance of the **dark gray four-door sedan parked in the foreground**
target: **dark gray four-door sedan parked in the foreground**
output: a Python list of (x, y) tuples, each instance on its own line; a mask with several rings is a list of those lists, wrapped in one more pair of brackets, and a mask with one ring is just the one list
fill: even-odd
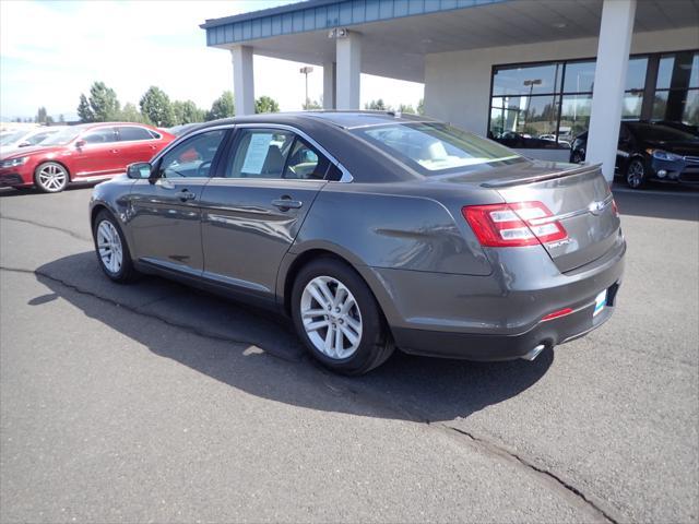
[(599, 168), (376, 112), (211, 122), (95, 187), (90, 216), (112, 281), (277, 308), (348, 374), (394, 347), (534, 359), (612, 315), (626, 251)]

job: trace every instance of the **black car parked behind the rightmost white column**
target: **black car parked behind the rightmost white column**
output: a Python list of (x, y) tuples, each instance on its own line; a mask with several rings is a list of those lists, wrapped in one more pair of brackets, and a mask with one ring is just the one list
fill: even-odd
[[(585, 159), (588, 132), (573, 140), (570, 162)], [(616, 171), (633, 189), (649, 180), (699, 183), (699, 138), (657, 122), (621, 122)]]

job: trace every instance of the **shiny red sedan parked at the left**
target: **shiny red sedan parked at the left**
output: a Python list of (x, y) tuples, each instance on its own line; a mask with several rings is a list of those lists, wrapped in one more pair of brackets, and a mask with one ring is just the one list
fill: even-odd
[(142, 123), (84, 123), (62, 129), (39, 146), (0, 152), (0, 187), (35, 186), (47, 193), (69, 182), (105, 180), (147, 162), (175, 136)]

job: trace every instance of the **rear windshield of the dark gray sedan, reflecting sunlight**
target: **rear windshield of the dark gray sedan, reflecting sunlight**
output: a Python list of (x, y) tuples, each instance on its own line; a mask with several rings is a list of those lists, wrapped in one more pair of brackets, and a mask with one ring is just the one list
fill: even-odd
[(503, 145), (446, 123), (390, 123), (353, 132), (425, 176), (482, 170), (524, 160)]

